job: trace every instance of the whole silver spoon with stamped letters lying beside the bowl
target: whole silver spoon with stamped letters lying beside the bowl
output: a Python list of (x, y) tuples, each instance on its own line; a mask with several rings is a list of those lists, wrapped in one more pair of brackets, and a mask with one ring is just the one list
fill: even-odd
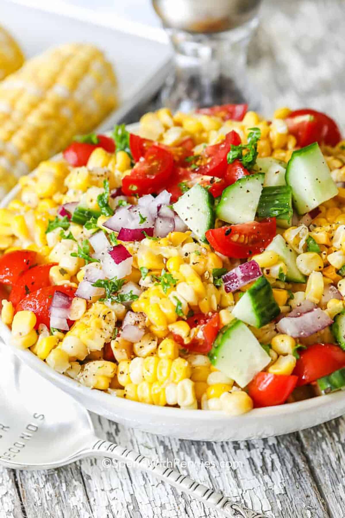
[(108, 457), (148, 471), (231, 518), (268, 518), (154, 459), (99, 439), (84, 407), (0, 347), (0, 464), (38, 470), (87, 456)]

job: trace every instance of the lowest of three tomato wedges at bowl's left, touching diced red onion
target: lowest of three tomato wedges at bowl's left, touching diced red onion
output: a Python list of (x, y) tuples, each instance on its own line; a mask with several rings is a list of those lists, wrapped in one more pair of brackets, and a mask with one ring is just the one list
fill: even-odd
[(17, 304), (16, 313), (17, 311), (23, 310), (33, 311), (37, 318), (36, 329), (39, 324), (44, 324), (50, 328), (49, 308), (56, 291), (61, 291), (70, 297), (74, 297), (76, 288), (72, 288), (71, 286), (46, 286), (40, 288), (26, 295), (20, 303)]

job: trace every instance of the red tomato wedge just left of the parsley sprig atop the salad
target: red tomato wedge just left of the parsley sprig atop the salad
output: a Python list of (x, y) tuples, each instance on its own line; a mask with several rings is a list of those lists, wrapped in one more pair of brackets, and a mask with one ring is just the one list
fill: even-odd
[(214, 146), (207, 146), (200, 154), (199, 159), (194, 162), (194, 172), (199, 175), (218, 176), (222, 178), (227, 170), (227, 154), (231, 146), (241, 144), (238, 133), (231, 131), (227, 133), (224, 140)]

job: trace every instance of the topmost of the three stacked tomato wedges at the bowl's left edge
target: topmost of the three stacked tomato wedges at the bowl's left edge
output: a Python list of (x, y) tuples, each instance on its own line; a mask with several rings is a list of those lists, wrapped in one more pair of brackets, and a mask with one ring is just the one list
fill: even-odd
[(15, 250), (0, 258), (0, 282), (13, 285), (19, 276), (37, 263), (37, 253), (31, 250)]

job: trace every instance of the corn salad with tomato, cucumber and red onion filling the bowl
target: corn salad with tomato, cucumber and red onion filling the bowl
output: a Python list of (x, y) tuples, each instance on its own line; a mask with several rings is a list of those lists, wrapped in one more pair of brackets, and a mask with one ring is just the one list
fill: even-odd
[[(316, 381), (302, 381), (304, 355), (316, 345), (342, 353), (332, 323), (344, 312), (344, 143), (321, 145), (336, 194), (317, 210), (294, 214), (279, 226), (279, 216), (277, 224), (273, 216), (267, 223), (254, 209), (254, 223), (245, 224), (272, 226), (274, 220), (274, 234), (262, 246), (241, 234), (235, 220), (229, 225), (219, 217), (218, 207), (227, 200), (223, 188), (219, 194), (213, 190), (219, 177), (212, 176), (212, 153), (205, 153), (205, 149), (218, 150), (235, 133), (229, 154), (237, 153), (235, 163), (242, 176), (228, 180), (225, 189), (259, 178), (258, 164), (266, 157), (279, 161), (285, 171), (291, 157), (297, 156), (294, 150), (303, 148), (289, 117), (288, 108), (277, 110), (271, 121), (252, 111), (235, 121), (202, 110), (173, 115), (163, 108), (142, 117), (140, 137), (129, 135), (124, 127), (115, 128), (114, 152), (98, 142), (82, 163), (85, 143), (97, 144), (97, 137), (89, 135), (77, 150), (81, 153), (78, 166), (58, 157), (41, 162), (34, 175), (21, 177), (20, 195), (0, 209), (0, 282), (6, 289), (12, 287), (3, 300), (1, 318), (11, 327), (14, 346), (30, 349), (51, 368), (90, 389), (151, 405), (239, 415), (253, 406), (295, 400), (296, 383)], [(156, 142), (151, 148), (148, 139)], [(144, 149), (140, 151), (138, 144)], [(158, 188), (160, 172), (154, 176), (153, 162), (149, 172), (144, 169), (141, 174), (140, 168), (153, 154), (155, 167), (158, 160), (165, 161), (164, 167), (171, 163), (171, 179), (179, 174), (176, 163), (178, 171), (184, 171), (177, 186), (165, 178)], [(232, 174), (229, 166), (234, 161), (229, 154), (224, 168)], [(255, 155), (253, 164), (249, 164), (250, 154)], [(208, 174), (201, 175), (205, 168)], [(217, 194), (216, 217), (208, 223), (207, 239), (200, 231), (201, 216), (191, 221), (180, 209), (181, 200), (196, 186), (205, 199), (210, 192)], [(165, 196), (166, 201), (154, 207), (156, 198), (145, 198), (151, 193)], [(147, 200), (156, 211), (151, 222), (151, 213), (145, 212)], [(169, 228), (173, 202), (175, 223)], [(128, 211), (140, 221), (133, 226), (132, 220), (126, 220), (124, 232), (123, 225), (118, 226), (118, 214), (128, 218)], [(217, 249), (214, 233), (225, 228), (224, 242), (232, 231), (231, 247), (236, 243), (247, 250), (244, 255), (235, 248), (226, 253), (224, 244), (221, 251)], [(159, 235), (162, 232), (164, 236)], [(270, 244), (277, 237), (293, 264)], [(121, 260), (115, 252), (122, 255)], [(255, 263), (257, 277), (229, 289), (230, 277), (239, 282), (241, 268), (249, 262)], [(269, 317), (256, 309), (258, 283), (271, 304)], [(64, 306), (56, 306), (56, 294), (68, 299), (67, 312)], [(251, 301), (250, 311), (243, 310), (244, 300)], [(326, 325), (301, 332), (296, 321), (315, 311), (321, 312)], [(285, 331), (289, 326), (294, 329), (291, 333)], [(234, 330), (236, 336), (245, 337), (242, 344), (239, 338), (232, 341)], [(237, 370), (239, 356), (230, 365), (222, 363), (231, 347), (256, 348), (256, 360), (245, 357)], [(242, 350), (236, 354), (243, 354)], [(344, 366), (340, 362), (339, 368)], [(321, 369), (318, 378), (330, 373)], [(263, 397), (260, 383), (265, 380), (271, 383), (271, 392)]]

